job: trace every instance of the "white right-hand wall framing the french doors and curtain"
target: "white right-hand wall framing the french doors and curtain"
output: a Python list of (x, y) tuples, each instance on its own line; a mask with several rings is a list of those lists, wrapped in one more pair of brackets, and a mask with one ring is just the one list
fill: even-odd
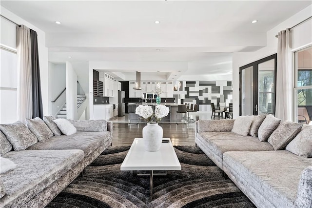
[[(239, 116), (239, 67), (277, 53), (275, 35), (286, 28), (311, 16), (312, 5), (281, 22), (267, 32), (267, 46), (255, 52), (236, 52), (233, 54), (233, 117)], [(312, 43), (312, 20), (306, 21), (292, 30), (292, 49)], [(292, 79), (293, 82), (293, 79)]]

